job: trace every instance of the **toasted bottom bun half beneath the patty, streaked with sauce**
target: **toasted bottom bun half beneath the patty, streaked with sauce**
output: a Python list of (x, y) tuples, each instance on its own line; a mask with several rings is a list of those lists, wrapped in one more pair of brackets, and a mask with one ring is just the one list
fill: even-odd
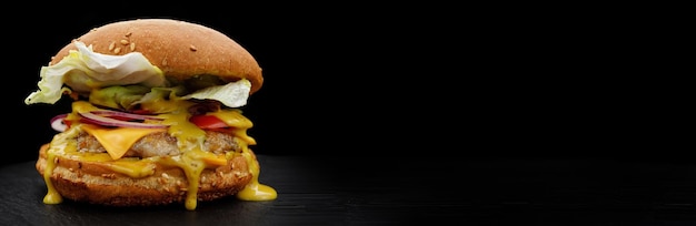
[[(41, 146), (36, 168), (43, 176), (48, 144)], [(217, 168), (206, 168), (200, 175), (198, 201), (228, 197), (241, 191), (252, 178), (245, 157), (228, 161)], [(155, 174), (131, 178), (109, 171), (97, 162), (80, 162), (58, 157), (51, 183), (61, 196), (106, 206), (155, 206), (183, 203), (188, 181), (178, 167), (157, 164)]]

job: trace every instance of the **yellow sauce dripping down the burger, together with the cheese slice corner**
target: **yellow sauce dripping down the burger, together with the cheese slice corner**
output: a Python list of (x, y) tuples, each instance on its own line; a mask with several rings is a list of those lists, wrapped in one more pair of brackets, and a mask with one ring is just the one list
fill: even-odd
[[(171, 103), (169, 103), (171, 104)], [(233, 133), (237, 137), (241, 153), (228, 153), (227, 155), (216, 155), (203, 151), (205, 131), (188, 121), (190, 116), (186, 111), (187, 104), (180, 104), (178, 111), (169, 114), (162, 114), (165, 120), (162, 124), (169, 125), (168, 133), (177, 137), (181, 155), (173, 157), (149, 157), (132, 158), (121, 157), (125, 152), (138, 138), (149, 134), (150, 132), (162, 131), (163, 129), (99, 129), (95, 125), (76, 123), (68, 131), (56, 135), (47, 150), (48, 164), (43, 172), (48, 192), (43, 198), (46, 204), (59, 204), (62, 202), (61, 195), (53, 187), (50, 175), (56, 168), (58, 156), (72, 158), (84, 162), (100, 162), (109, 170), (128, 175), (133, 178), (147, 177), (155, 173), (156, 163), (177, 166), (181, 168), (188, 183), (185, 206), (187, 209), (196, 209), (197, 195), (200, 185), (200, 174), (205, 168), (217, 167), (227, 164), (231, 157), (241, 154), (247, 161), (249, 173), (252, 175), (250, 183), (240, 191), (236, 196), (242, 201), (272, 201), (277, 198), (275, 188), (259, 183), (260, 167), (255, 155), (248, 148), (248, 145), (256, 144), (256, 141), (248, 136), (246, 131), (251, 127), (251, 122), (236, 110), (222, 110), (216, 112), (215, 115), (232, 125), (238, 130)], [(96, 107), (88, 102), (77, 101), (73, 103), (73, 113), (68, 117), (76, 119), (77, 112), (92, 111)], [(98, 141), (103, 142), (108, 153), (79, 153), (77, 144), (73, 140), (79, 131), (86, 131), (96, 136)], [(127, 146), (128, 148), (123, 147)]]

